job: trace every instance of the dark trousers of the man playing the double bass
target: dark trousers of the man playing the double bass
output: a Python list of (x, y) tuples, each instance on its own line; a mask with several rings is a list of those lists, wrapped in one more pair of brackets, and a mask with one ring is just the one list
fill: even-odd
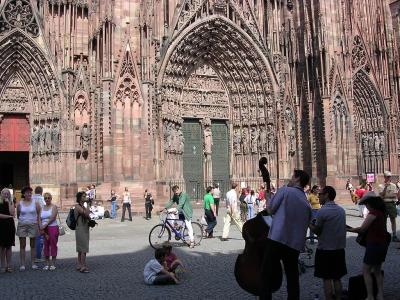
[(299, 251), (270, 239), (267, 240), (262, 262), (261, 276), (265, 285), (261, 291), (260, 300), (272, 300), (272, 290), (268, 283), (274, 279), (275, 272), (271, 266), (276, 261), (283, 262), (287, 281), (287, 299), (299, 300)]

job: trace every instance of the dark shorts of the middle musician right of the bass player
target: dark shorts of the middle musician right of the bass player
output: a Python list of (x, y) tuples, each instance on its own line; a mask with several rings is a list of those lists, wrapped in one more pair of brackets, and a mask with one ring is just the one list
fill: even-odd
[(317, 249), (315, 252), (315, 277), (339, 280), (346, 274), (346, 254), (344, 249)]

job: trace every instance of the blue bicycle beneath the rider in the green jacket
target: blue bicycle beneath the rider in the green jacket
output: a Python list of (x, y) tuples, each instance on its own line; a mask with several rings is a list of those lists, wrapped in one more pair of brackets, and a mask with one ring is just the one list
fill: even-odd
[[(181, 240), (186, 245), (190, 245), (188, 229), (183, 220), (169, 219), (166, 211), (160, 214), (160, 220), (161, 223), (154, 226), (149, 233), (149, 243), (152, 248), (161, 248), (164, 242), (169, 242), (171, 240), (171, 231), (175, 235), (175, 240)], [(203, 239), (203, 226), (200, 223), (192, 222), (192, 228), (194, 245), (198, 246)]]

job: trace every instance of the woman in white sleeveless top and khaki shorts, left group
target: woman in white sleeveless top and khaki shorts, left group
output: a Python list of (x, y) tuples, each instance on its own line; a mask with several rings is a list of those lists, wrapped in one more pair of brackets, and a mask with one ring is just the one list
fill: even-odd
[(37, 270), (38, 266), (35, 265), (35, 239), (39, 235), (40, 226), (40, 205), (38, 202), (32, 200), (32, 188), (24, 187), (21, 190), (23, 198), (17, 205), (17, 236), (19, 237), (19, 259), (20, 271), (25, 271), (25, 248), (26, 238), (29, 237), (31, 246), (31, 263), (32, 269)]

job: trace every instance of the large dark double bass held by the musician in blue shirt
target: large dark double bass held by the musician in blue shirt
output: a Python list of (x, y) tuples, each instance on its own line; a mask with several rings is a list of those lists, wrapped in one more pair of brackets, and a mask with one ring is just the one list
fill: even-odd
[[(261, 157), (259, 169), (263, 181), (266, 183), (267, 193), (271, 190), (271, 179), (266, 168), (267, 158)], [(269, 226), (264, 220), (266, 211), (260, 212), (253, 219), (243, 225), (242, 236), (245, 240), (245, 247), (242, 254), (239, 254), (235, 263), (235, 278), (239, 286), (245, 291), (260, 296), (265, 282), (261, 276), (262, 263), (265, 255), (265, 247), (268, 238)], [(273, 282), (269, 282), (271, 290), (277, 291), (282, 285), (282, 267), (279, 261), (268, 266), (274, 269), (276, 276)]]

